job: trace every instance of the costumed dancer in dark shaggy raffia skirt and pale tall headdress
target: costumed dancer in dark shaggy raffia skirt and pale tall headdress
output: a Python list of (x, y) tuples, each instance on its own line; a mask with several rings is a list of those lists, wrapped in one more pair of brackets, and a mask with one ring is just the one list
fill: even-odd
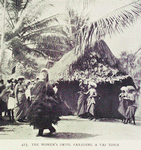
[(46, 68), (40, 72), (40, 79), (34, 87), (34, 101), (27, 111), (27, 119), (34, 129), (39, 129), (37, 136), (43, 136), (44, 129), (50, 133), (55, 132), (52, 124), (59, 119), (58, 102), (55, 100), (55, 93), (49, 84), (48, 71)]

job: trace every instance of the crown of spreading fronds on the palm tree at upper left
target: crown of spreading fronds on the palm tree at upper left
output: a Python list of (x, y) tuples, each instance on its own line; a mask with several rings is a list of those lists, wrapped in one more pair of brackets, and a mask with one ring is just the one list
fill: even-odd
[[(3, 1), (0, 1), (3, 6)], [(65, 38), (57, 20), (59, 14), (40, 19), (42, 13), (53, 8), (48, 0), (7, 0), (5, 48), (12, 51), (14, 61), (27, 61), (26, 55), (46, 57), (51, 49), (42, 48), (45, 38)], [(50, 41), (51, 43), (51, 41)], [(54, 43), (59, 45), (59, 42)], [(42, 45), (42, 47), (40, 47)], [(60, 44), (61, 45), (61, 44)], [(64, 45), (62, 43), (62, 45)], [(54, 50), (56, 51), (56, 49)], [(1, 64), (5, 64), (3, 57)]]

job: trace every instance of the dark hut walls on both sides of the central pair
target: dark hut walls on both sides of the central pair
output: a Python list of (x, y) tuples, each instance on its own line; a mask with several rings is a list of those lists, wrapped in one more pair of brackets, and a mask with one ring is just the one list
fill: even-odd
[[(133, 85), (131, 77), (117, 80), (114, 83), (102, 82), (97, 86), (97, 92), (101, 99), (97, 100), (95, 115), (97, 118), (121, 118), (118, 112), (120, 88), (122, 86)], [(73, 114), (77, 112), (77, 101), (79, 82), (78, 81), (61, 81), (59, 82), (59, 93), (62, 100), (66, 101)]]

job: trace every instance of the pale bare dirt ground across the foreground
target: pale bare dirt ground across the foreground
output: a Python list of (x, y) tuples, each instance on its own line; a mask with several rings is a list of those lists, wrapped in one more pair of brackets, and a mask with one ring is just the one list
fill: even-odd
[(0, 121), (0, 139), (49, 139), (49, 140), (140, 140), (141, 120), (136, 119), (136, 125), (123, 124), (121, 120), (102, 119), (88, 120), (77, 116), (63, 116), (55, 125), (56, 133), (49, 135), (44, 131), (43, 137), (36, 137), (38, 130), (34, 130), (28, 123), (11, 123), (4, 118)]

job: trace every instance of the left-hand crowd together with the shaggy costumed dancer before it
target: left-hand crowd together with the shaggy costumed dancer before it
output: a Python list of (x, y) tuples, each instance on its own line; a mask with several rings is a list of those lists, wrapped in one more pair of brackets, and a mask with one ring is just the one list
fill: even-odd
[(57, 94), (57, 84), (51, 85), (48, 78), (48, 71), (44, 68), (35, 80), (25, 81), (24, 76), (19, 76), (7, 80), (6, 85), (1, 80), (0, 119), (5, 112), (10, 121), (28, 121), (39, 129), (38, 136), (43, 135), (44, 129), (55, 132), (52, 124), (57, 124), (62, 115), (61, 99)]

